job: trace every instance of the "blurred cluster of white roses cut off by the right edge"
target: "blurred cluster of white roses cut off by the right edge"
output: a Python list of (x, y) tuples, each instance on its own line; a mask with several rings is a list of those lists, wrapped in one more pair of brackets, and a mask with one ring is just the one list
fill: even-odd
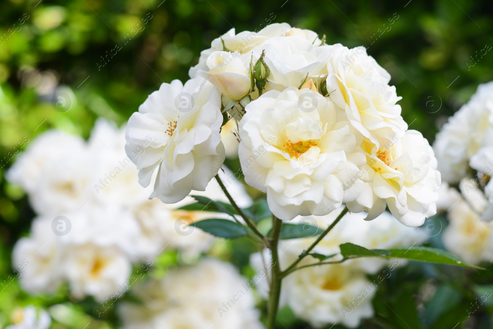
[(444, 244), (470, 263), (493, 261), (493, 82), (481, 84), (437, 134), (433, 145), (444, 183)]

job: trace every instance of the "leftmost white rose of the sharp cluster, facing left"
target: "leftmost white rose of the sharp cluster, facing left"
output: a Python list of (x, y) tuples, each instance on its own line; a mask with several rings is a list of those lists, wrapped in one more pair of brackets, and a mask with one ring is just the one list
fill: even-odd
[[(179, 94), (186, 93), (186, 108)], [(192, 108), (193, 106), (193, 108)], [(219, 135), (221, 99), (201, 77), (182, 86), (163, 83), (129, 119), (126, 151), (137, 165), (139, 179), (148, 186), (159, 168), (154, 192), (165, 203), (176, 203), (192, 189), (204, 190), (224, 161)], [(185, 112), (188, 110), (188, 112)], [(139, 151), (141, 149), (141, 151)]]

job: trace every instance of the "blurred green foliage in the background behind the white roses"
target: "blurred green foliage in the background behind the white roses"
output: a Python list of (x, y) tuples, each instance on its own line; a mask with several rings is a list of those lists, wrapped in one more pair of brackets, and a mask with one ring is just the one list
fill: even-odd
[[(432, 142), (477, 85), (493, 80), (493, 52), (483, 55), (493, 45), (492, 13), (486, 0), (1, 0), (0, 280), (12, 274), (12, 246), (34, 216), (26, 196), (1, 178), (16, 153), (50, 128), (87, 137), (98, 116), (123, 123), (162, 82), (185, 81), (200, 51), (232, 27), (253, 31), (274, 15), (272, 22), (326, 34), (327, 43), (365, 45), (392, 75), (410, 128)], [(438, 246), (439, 236), (431, 243)], [(251, 275), (253, 251), (236, 241), (217, 252)], [(161, 256), (155, 275), (175, 258)], [(362, 328), (492, 328), (491, 303), (468, 318), (492, 282), (491, 271), (399, 267)], [(65, 296), (30, 297), (14, 280), (0, 292), (0, 325), (16, 304), (63, 303), (50, 309), (53, 328), (117, 326), (114, 315), (95, 320), (95, 302)], [(281, 312), (280, 328), (306, 328), (289, 309)]]

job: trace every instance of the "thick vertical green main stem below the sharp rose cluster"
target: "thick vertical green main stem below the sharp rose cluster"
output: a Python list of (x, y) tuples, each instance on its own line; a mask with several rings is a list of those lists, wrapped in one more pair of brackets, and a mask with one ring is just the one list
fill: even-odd
[(269, 304), (267, 315), (267, 329), (274, 329), (276, 323), (276, 314), (279, 307), (279, 296), (281, 295), (281, 265), (279, 263), (279, 238), (281, 236), (282, 220), (272, 216), (272, 239), (270, 249), (272, 253), (272, 270), (271, 270), (271, 289), (269, 291)]

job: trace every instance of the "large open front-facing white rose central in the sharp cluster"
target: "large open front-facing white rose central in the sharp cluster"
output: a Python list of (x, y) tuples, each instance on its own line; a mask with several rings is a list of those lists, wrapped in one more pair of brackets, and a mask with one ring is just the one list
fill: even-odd
[[(311, 111), (300, 110), (303, 95)], [(267, 192), (269, 208), (283, 220), (325, 215), (354, 200), (364, 159), (348, 124), (336, 122), (333, 103), (310, 89), (267, 92), (246, 106), (240, 122), (246, 183)]]

